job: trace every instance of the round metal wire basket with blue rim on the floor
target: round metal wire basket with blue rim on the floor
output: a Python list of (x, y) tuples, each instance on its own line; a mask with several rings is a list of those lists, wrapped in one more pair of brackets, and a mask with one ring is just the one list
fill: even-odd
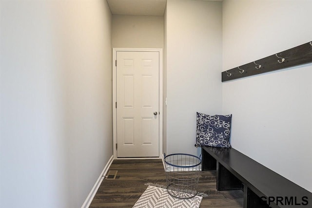
[(197, 194), (201, 156), (164, 154), (168, 193), (178, 199), (190, 199)]

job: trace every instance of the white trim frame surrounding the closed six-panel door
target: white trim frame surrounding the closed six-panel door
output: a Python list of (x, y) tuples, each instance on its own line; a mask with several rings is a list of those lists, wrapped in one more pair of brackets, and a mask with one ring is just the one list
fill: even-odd
[[(113, 48), (113, 153), (114, 159), (127, 159), (117, 157), (117, 52), (158, 52), (159, 53), (159, 157), (147, 157), (147, 158), (162, 158), (162, 125), (163, 125), (163, 104), (162, 104), (162, 85), (163, 85), (163, 62), (162, 62), (162, 48)], [(139, 159), (147, 159), (140, 157)], [(135, 158), (128, 158), (135, 159)]]

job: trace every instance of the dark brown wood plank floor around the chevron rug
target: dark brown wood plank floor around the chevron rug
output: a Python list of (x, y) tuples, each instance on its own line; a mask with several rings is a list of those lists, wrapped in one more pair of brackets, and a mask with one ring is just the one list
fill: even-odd
[[(117, 179), (104, 179), (90, 208), (129, 208), (147, 188), (146, 183), (166, 185), (162, 160), (114, 160), (109, 170), (118, 170)], [(201, 208), (242, 208), (243, 191), (216, 191), (215, 171), (201, 171), (198, 191), (208, 196)]]

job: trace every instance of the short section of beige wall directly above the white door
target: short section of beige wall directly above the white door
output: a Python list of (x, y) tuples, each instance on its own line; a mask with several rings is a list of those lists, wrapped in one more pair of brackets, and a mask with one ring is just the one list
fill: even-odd
[(163, 48), (162, 16), (113, 15), (113, 48)]

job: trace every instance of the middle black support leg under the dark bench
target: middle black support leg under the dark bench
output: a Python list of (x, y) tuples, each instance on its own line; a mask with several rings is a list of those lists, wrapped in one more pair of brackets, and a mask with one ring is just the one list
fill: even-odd
[(217, 162), (216, 175), (217, 190), (239, 190), (243, 188), (242, 182), (219, 162)]

